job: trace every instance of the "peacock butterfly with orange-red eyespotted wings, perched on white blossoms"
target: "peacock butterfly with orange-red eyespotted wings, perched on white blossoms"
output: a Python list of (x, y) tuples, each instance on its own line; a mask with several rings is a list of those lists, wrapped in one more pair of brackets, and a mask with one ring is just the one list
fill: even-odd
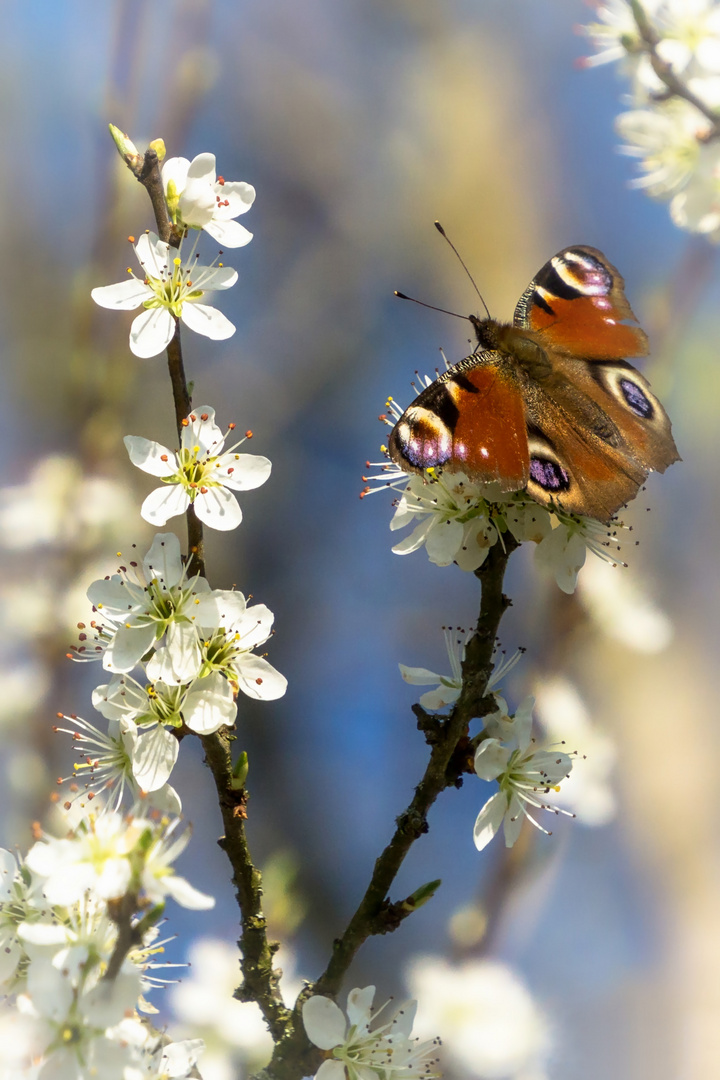
[(463, 472), (570, 514), (610, 518), (679, 461), (668, 416), (627, 356), (648, 338), (595, 247), (563, 247), (512, 325), (470, 315), (477, 348), (422, 391), (390, 435), (405, 472)]

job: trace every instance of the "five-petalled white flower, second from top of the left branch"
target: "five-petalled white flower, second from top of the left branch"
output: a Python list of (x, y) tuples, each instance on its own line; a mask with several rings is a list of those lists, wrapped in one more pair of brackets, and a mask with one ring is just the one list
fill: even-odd
[(140, 237), (135, 254), (144, 279), (131, 271), (128, 281), (94, 288), (91, 296), (101, 308), (114, 311), (132, 311), (142, 305), (145, 311), (133, 321), (130, 332), (130, 348), (136, 356), (157, 356), (166, 349), (175, 336), (178, 319), (188, 329), (214, 341), (223, 341), (235, 333), (229, 319), (202, 302), (206, 293), (234, 285), (235, 270), (221, 265), (198, 265), (194, 247), (184, 264), (179, 248), (171, 248), (154, 232)]

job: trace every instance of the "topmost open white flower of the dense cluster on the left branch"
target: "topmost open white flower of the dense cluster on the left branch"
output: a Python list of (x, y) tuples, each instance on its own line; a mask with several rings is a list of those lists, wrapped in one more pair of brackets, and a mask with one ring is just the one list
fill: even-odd
[[(159, 532), (142, 559), (132, 562), (111, 578), (94, 581), (87, 598), (105, 622), (101, 649), (107, 671), (130, 672), (140, 658), (166, 635), (166, 646), (177, 681), (189, 683), (202, 663), (199, 633), (214, 629), (203, 600), (210, 593), (204, 578), (188, 578), (180, 557), (180, 541), (173, 532)], [(97, 653), (96, 650), (96, 656)]]

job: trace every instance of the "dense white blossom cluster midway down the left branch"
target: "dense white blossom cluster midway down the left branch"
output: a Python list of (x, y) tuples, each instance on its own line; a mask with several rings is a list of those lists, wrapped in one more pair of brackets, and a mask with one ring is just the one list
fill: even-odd
[(168, 785), (177, 737), (232, 726), (241, 690), (260, 701), (285, 693), (285, 677), (254, 651), (272, 634), (272, 611), (188, 575), (173, 532), (159, 532), (140, 563), (94, 581), (87, 596), (95, 617), (81, 627), (72, 656), (101, 660), (109, 673), (93, 705), (110, 726), (106, 735), (86, 720), (66, 718), (86, 753), (76, 773), (86, 774), (85, 792), (110, 788), (116, 806), (127, 789), (179, 810)]

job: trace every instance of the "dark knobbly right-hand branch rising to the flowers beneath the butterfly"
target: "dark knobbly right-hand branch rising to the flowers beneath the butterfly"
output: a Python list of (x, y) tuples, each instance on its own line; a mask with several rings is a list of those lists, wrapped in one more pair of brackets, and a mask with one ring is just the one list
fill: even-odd
[(397, 905), (390, 905), (388, 892), (411, 846), (427, 832), (427, 813), (435, 799), (458, 781), (452, 759), (459, 743), (467, 734), (470, 721), (483, 716), (487, 710), (484, 697), (492, 672), (492, 651), (500, 620), (511, 604), (502, 591), (503, 578), (507, 561), (517, 548), (510, 534), (503, 539), (505, 550), (495, 544), (483, 566), (475, 571), (483, 585), (483, 597), (477, 626), (465, 650), (460, 698), (447, 719), (437, 719), (438, 727), (430, 725), (424, 712), (416, 710), (418, 726), (431, 737), (432, 751), (425, 773), (416, 787), (410, 805), (397, 818), (393, 838), (375, 864), (357, 910), (343, 934), (336, 939), (327, 968), (313, 986), (305, 987), (299, 995), (286, 1034), (276, 1043), (267, 1069), (260, 1074), (263, 1080), (299, 1080), (316, 1071), (322, 1055), (305, 1037), (300, 1015), (302, 1002), (311, 994), (335, 997), (352, 960), (367, 939), (386, 933), (402, 921), (396, 919), (395, 926), (389, 921), (389, 913), (397, 912)]

